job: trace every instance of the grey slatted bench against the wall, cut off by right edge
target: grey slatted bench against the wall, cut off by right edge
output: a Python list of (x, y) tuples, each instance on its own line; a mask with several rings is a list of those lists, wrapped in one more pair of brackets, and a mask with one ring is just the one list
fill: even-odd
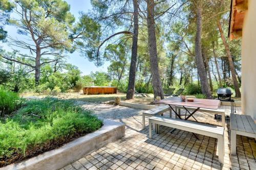
[(237, 154), (237, 135), (256, 138), (256, 125), (249, 115), (230, 114), (231, 154)]

